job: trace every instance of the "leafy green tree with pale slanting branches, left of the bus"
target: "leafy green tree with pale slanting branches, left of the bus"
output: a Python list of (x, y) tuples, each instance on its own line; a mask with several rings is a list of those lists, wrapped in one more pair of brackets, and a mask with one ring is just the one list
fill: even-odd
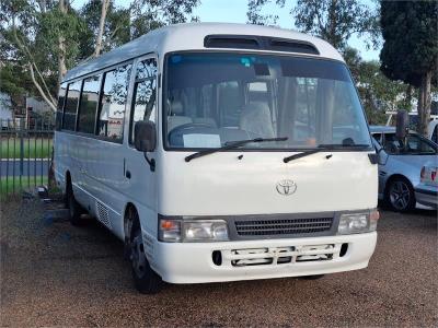
[(66, 0), (4, 0), (0, 8), (1, 61), (24, 72), (33, 82), (30, 94), (56, 110), (58, 82), (78, 50), (80, 20)]

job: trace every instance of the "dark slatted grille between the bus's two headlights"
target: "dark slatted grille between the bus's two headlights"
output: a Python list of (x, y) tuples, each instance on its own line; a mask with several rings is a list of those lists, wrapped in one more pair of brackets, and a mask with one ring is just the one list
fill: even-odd
[(240, 236), (295, 235), (330, 231), (333, 218), (235, 221)]

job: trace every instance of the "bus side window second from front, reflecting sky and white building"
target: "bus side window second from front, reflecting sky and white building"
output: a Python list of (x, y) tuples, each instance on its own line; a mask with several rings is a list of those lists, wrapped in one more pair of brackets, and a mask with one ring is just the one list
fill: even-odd
[(122, 140), (131, 65), (105, 73), (97, 134)]

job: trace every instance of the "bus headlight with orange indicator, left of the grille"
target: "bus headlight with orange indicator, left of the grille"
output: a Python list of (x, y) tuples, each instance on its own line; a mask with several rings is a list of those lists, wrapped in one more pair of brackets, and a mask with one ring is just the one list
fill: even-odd
[(161, 242), (223, 242), (228, 241), (224, 220), (160, 219)]

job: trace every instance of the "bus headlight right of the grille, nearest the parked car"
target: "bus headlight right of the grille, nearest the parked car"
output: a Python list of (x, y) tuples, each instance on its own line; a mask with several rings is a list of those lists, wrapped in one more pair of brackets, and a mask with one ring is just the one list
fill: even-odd
[(345, 235), (376, 231), (378, 220), (379, 211), (377, 210), (360, 213), (344, 213), (341, 214), (337, 233)]

